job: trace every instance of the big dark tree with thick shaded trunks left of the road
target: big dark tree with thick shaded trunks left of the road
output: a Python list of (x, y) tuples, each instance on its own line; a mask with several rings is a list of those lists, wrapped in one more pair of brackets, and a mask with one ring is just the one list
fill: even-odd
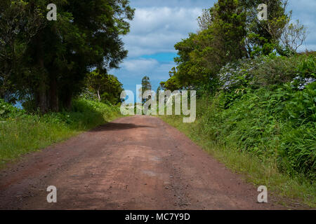
[[(57, 21), (47, 21), (48, 0), (25, 0), (31, 14), (45, 22), (24, 54), (27, 63), (16, 80), (42, 113), (69, 109), (93, 68), (117, 68), (126, 57), (121, 35), (129, 32), (134, 10), (128, 0), (56, 0)], [(2, 20), (2, 17), (0, 18)], [(0, 22), (1, 23), (1, 22)]]

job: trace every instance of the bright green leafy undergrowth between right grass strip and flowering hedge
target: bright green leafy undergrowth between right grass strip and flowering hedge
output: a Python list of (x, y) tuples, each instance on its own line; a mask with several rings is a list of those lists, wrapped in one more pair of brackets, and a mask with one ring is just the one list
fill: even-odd
[(230, 93), (220, 92), (207, 108), (205, 101), (199, 104), (202, 133), (315, 181), (315, 84), (299, 92), (261, 88), (242, 94), (229, 108), (223, 105)]

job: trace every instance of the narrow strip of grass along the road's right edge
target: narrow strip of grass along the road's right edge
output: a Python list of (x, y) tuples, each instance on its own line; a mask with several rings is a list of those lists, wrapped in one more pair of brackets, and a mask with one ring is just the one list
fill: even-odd
[(159, 118), (186, 134), (226, 167), (242, 174), (246, 181), (257, 187), (267, 186), (268, 192), (277, 196), (280, 204), (295, 203), (316, 208), (315, 183), (311, 183), (305, 177), (290, 177), (282, 174), (273, 160), (263, 162), (249, 152), (240, 151), (238, 147), (225, 146), (213, 141), (199, 132), (199, 126), (204, 125), (199, 118), (195, 123), (183, 123), (181, 116), (159, 116)]

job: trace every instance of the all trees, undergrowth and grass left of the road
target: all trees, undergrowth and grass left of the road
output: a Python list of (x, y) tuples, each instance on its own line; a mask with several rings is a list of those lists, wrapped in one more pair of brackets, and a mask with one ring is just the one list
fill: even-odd
[[(0, 163), (119, 116), (128, 0), (0, 2)], [(23, 108), (17, 109), (15, 106)]]

